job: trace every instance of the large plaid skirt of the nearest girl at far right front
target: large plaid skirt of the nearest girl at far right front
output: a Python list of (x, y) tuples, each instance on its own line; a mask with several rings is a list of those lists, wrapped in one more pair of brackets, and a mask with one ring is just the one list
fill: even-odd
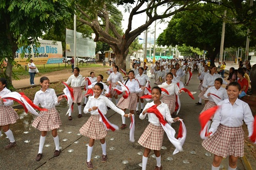
[(241, 127), (219, 125), (211, 137), (205, 139), (203, 147), (215, 155), (227, 157), (244, 156), (244, 131)]

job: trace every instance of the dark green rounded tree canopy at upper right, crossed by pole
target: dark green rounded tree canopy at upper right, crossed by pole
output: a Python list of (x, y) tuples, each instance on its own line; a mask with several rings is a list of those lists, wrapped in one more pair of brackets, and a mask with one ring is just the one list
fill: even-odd
[[(157, 44), (198, 47), (206, 50), (207, 57), (214, 61), (220, 51), (222, 23), (221, 18), (207, 11), (183, 11), (169, 21), (168, 27), (158, 37)], [(245, 46), (245, 42), (246, 30), (226, 22), (224, 47)]]

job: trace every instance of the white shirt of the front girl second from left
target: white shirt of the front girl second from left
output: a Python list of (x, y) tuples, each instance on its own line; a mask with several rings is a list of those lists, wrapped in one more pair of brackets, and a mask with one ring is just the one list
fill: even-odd
[(46, 91), (39, 90), (35, 93), (35, 98), (33, 103), (38, 106), (41, 105), (42, 108), (51, 109), (59, 105), (58, 98), (55, 90), (52, 88), (46, 89)]

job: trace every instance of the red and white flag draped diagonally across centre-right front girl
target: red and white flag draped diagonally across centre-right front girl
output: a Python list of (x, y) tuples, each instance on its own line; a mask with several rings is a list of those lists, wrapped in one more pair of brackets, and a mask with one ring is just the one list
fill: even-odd
[(175, 130), (165, 121), (163, 115), (157, 109), (157, 105), (154, 105), (147, 109), (147, 113), (154, 113), (156, 114), (157, 118), (160, 121), (161, 126), (163, 127), (169, 141), (173, 143), (174, 147), (177, 151), (183, 151), (181, 142), (175, 138)]

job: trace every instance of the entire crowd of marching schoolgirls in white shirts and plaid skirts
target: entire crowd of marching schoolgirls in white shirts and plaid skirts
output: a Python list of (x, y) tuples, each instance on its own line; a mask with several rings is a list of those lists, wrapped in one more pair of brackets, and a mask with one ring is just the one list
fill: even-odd
[[(133, 69), (128, 72), (127, 80), (123, 79), (122, 74), (119, 72), (119, 67), (112, 63), (112, 67), (107, 71), (109, 78), (107, 79), (108, 85), (102, 82), (103, 76), (95, 76), (94, 72), (90, 72), (90, 77), (82, 77), (78, 67), (74, 68), (73, 75), (71, 75), (66, 82), (73, 89), (73, 103), (77, 103), (78, 106), (78, 118), (82, 117), (82, 87), (88, 91), (89, 89), (93, 93), (89, 93), (84, 98), (84, 113), (90, 113), (91, 116), (87, 122), (81, 127), (80, 133), (89, 137), (88, 154), (87, 154), (87, 167), (93, 169), (93, 163), (91, 161), (91, 155), (94, 147), (95, 139), (99, 139), (102, 148), (101, 162), (107, 160), (106, 155), (106, 143), (105, 136), (107, 134), (106, 127), (99, 121), (101, 114), (105, 115), (109, 109), (113, 109), (117, 113), (121, 114), (122, 124), (120, 129), (127, 127), (125, 118), (134, 115), (135, 111), (139, 115), (140, 119), (144, 119), (148, 115), (147, 126), (143, 134), (139, 139), (139, 143), (145, 148), (142, 158), (142, 169), (146, 169), (147, 157), (151, 150), (154, 150), (156, 155), (157, 165), (155, 170), (162, 169), (160, 148), (163, 141), (163, 128), (160, 125), (160, 119), (152, 113), (152, 107), (156, 105), (156, 110), (161, 113), (164, 119), (169, 123), (177, 122), (180, 118), (177, 117), (177, 103), (180, 107), (179, 95), (184, 91), (184, 85), (188, 85), (192, 72), (198, 70), (198, 79), (200, 80), (199, 90), (199, 102), (197, 105), (202, 105), (202, 100), (205, 100), (205, 110), (217, 105), (221, 105), (221, 109), (213, 115), (212, 126), (209, 129), (209, 138), (203, 141), (203, 146), (206, 150), (215, 154), (214, 161), (211, 169), (219, 169), (220, 162), (223, 157), (230, 155), (228, 169), (236, 169), (236, 162), (238, 156), (243, 156), (243, 143), (244, 135), (237, 136), (230, 135), (232, 132), (241, 132), (242, 120), (248, 126), (249, 135), (252, 134), (253, 117), (248, 104), (239, 100), (239, 98), (246, 93), (248, 89), (248, 80), (244, 77), (246, 71), (243, 67), (238, 70), (237, 76), (235, 75), (234, 68), (230, 68), (228, 82), (223, 79), (223, 76), (218, 74), (217, 67), (215, 65), (208, 66), (204, 60), (164, 60), (159, 59), (155, 64), (150, 66), (151, 79), (155, 78), (155, 86), (150, 89), (148, 83), (151, 79), (147, 76), (147, 66), (144, 63), (143, 66), (138, 67), (138, 63), (133, 63)], [(223, 67), (220, 67), (221, 69)], [(220, 70), (221, 70), (220, 69)], [(238, 80), (237, 80), (238, 79)], [(237, 81), (237, 82), (236, 82)], [(153, 82), (152, 82), (153, 83)], [(227, 90), (222, 87), (222, 84), (227, 85)], [(0, 78), (0, 96), (10, 93), (10, 90), (6, 88), (7, 82), (4, 78)], [(36, 92), (34, 98), (34, 104), (41, 105), (42, 108), (47, 111), (41, 111), (34, 119), (32, 126), (41, 132), (39, 151), (36, 156), (36, 161), (40, 161), (42, 157), (42, 149), (46, 139), (48, 131), (52, 132), (52, 136), (55, 143), (54, 156), (60, 154), (59, 138), (57, 135), (57, 129), (61, 125), (61, 120), (58, 111), (55, 106), (59, 105), (59, 102), (64, 98), (63, 95), (56, 96), (54, 89), (49, 88), (50, 80), (47, 77), (40, 79), (41, 89)], [(121, 93), (119, 93), (121, 91)], [(123, 92), (123, 93), (122, 93)], [(126, 92), (124, 94), (124, 92)], [(122, 95), (118, 100), (118, 95)], [(144, 106), (144, 100), (142, 96), (145, 94), (151, 95), (153, 102), (148, 102)], [(112, 98), (115, 98), (115, 104), (112, 102)], [(141, 102), (141, 109), (139, 111), (139, 102)], [(10, 149), (16, 145), (12, 131), (9, 129), (10, 124), (14, 124), (18, 119), (17, 113), (12, 109), (12, 100), (3, 101), (0, 98), (0, 130), (1, 128), (9, 137), (10, 143), (6, 146), (6, 149)], [(244, 108), (244, 109), (243, 109)], [(125, 114), (126, 109), (130, 113)], [(148, 109), (151, 112), (148, 112)], [(226, 110), (229, 109), (229, 113)], [(231, 110), (231, 111), (230, 111)], [(200, 113), (200, 114), (201, 114)], [(72, 110), (69, 111), (69, 120), (72, 120)], [(230, 119), (237, 119), (238, 121), (230, 122)], [(1, 131), (0, 131), (1, 132)], [(226, 133), (228, 132), (228, 133)], [(223, 135), (222, 135), (223, 133)], [(211, 134), (213, 134), (211, 136)], [(221, 136), (220, 139), (218, 135)], [(229, 143), (224, 140), (228, 138)], [(216, 145), (222, 145), (223, 147), (213, 147)], [(236, 148), (236, 144), (240, 145), (240, 148)]]

